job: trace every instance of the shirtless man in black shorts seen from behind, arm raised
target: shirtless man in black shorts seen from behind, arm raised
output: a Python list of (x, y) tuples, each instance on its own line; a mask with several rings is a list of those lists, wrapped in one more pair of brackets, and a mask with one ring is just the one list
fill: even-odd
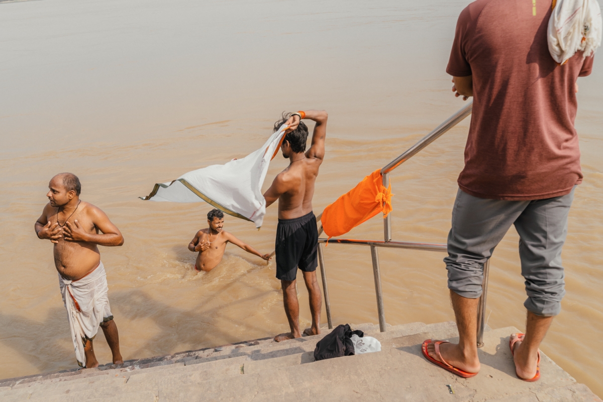
[[(276, 230), (276, 277), (283, 288), (283, 303), (291, 332), (277, 335), (274, 341), (300, 338), (299, 304), (295, 280), (297, 268), (303, 273), (308, 288), (312, 326), (306, 328), (306, 335), (320, 334), (320, 310), (322, 298), (316, 279), (318, 265), (318, 231), (316, 217), (312, 212), (314, 182), (318, 168), (324, 159), (324, 137), (327, 134), (327, 112), (308, 110), (283, 115), (274, 124), (274, 131), (286, 122), (289, 125), (281, 145), (283, 157), (289, 159), (289, 166), (280, 172), (270, 188), (264, 193), (266, 206), (279, 200), (279, 225)], [(306, 151), (308, 127), (301, 121), (316, 122), (312, 134), (312, 144)]]

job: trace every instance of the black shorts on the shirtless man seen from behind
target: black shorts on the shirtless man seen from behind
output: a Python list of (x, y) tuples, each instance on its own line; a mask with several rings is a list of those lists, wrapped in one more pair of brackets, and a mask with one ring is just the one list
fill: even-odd
[(276, 228), (276, 277), (292, 281), (297, 268), (316, 271), (318, 266), (318, 230), (314, 212), (294, 219), (279, 219)]

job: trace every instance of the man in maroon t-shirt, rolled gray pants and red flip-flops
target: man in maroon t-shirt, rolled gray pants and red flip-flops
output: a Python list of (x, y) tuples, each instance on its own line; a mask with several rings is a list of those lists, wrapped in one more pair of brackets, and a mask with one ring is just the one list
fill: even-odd
[(465, 168), (448, 236), (448, 286), (459, 344), (428, 339), (423, 353), (463, 377), (479, 371), (476, 316), (484, 263), (515, 225), (528, 310), (511, 335), (516, 374), (540, 377), (538, 347), (561, 309), (561, 248), (576, 184), (582, 181), (576, 80), (593, 57), (559, 66), (548, 51), (552, 0), (478, 0), (463, 10), (446, 71), (456, 96), (473, 96)]

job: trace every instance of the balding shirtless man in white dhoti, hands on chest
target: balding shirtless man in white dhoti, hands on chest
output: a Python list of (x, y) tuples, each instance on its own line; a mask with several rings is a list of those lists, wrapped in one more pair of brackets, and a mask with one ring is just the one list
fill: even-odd
[(54, 243), (54, 265), (78, 365), (98, 366), (92, 339), (99, 325), (111, 348), (113, 364), (121, 364), (124, 360), (119, 352), (119, 335), (109, 307), (107, 276), (98, 245), (121, 246), (124, 237), (101, 209), (81, 201), (80, 179), (74, 174), (60, 173), (48, 187), (46, 196), (50, 202), (36, 222), (36, 234)]

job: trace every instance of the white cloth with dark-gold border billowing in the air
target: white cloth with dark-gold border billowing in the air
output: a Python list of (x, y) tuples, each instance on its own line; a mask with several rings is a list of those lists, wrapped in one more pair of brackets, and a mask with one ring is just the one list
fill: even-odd
[(268, 165), (285, 138), (286, 128), (283, 124), (262, 148), (243, 159), (197, 169), (170, 183), (157, 183), (148, 196), (140, 198), (175, 203), (206, 201), (229, 215), (253, 221), (259, 228), (266, 214), (262, 184)]

